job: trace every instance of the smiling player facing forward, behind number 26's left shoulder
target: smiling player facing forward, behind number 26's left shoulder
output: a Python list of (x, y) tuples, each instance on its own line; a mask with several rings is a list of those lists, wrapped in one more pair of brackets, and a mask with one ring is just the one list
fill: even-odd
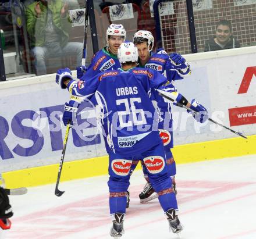
[(105, 70), (115, 70), (120, 68), (118, 60), (118, 48), (126, 39), (126, 31), (122, 24), (111, 24), (106, 30), (107, 45), (93, 56), (90, 66), (77, 67), (77, 79), (83, 75), (90, 79)]

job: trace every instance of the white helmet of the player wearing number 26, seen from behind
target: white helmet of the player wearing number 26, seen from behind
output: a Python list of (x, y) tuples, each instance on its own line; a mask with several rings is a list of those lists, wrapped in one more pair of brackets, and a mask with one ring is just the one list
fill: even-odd
[(138, 48), (135, 47), (133, 42), (123, 42), (118, 48), (119, 62), (138, 62)]

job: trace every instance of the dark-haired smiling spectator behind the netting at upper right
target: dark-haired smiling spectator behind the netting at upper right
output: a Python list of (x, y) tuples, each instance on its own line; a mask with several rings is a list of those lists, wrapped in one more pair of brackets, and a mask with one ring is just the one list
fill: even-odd
[(216, 37), (211, 37), (205, 42), (204, 51), (217, 51), (240, 47), (239, 42), (232, 35), (231, 23), (220, 20), (216, 25)]

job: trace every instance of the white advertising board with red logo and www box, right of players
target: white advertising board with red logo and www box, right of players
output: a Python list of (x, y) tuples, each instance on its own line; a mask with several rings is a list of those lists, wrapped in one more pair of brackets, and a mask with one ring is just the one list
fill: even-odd
[[(211, 52), (214, 53), (214, 52)], [(210, 54), (211, 54), (210, 53)], [(204, 105), (209, 116), (245, 135), (256, 134), (256, 53), (189, 60), (192, 73), (173, 83), (187, 99)], [(173, 106), (174, 144), (237, 137), (211, 122), (195, 122), (186, 110)]]

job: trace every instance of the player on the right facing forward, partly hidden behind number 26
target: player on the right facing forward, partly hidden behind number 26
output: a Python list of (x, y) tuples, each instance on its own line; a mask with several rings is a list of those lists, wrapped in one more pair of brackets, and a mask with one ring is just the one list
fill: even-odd
[[(165, 76), (169, 82), (181, 80), (183, 77), (190, 75), (190, 66), (181, 55), (172, 53), (170, 56), (168, 56), (164, 49), (158, 49), (156, 53), (152, 52), (154, 47), (154, 37), (150, 31), (137, 31), (134, 34), (133, 42), (138, 48), (138, 63), (140, 67), (157, 70), (159, 73)], [(163, 113), (163, 115), (159, 117), (158, 130), (165, 147), (166, 158), (168, 159), (167, 162), (169, 166), (169, 173), (173, 181), (172, 187), (177, 193), (175, 183), (176, 163), (171, 151), (173, 148), (172, 114), (170, 112), (171, 106), (169, 103), (159, 99), (158, 92), (153, 91), (151, 94), (151, 99), (154, 102), (155, 108), (157, 108), (159, 112)], [(136, 167), (137, 162), (133, 162), (133, 166), (131, 167), (132, 170), (134, 170)], [(141, 161), (141, 163), (143, 166), (143, 161)], [(146, 173), (144, 173), (144, 176), (147, 180)], [(141, 202), (144, 203), (157, 198), (157, 194), (154, 194), (154, 188), (151, 186), (151, 184), (147, 183), (139, 197)]]

